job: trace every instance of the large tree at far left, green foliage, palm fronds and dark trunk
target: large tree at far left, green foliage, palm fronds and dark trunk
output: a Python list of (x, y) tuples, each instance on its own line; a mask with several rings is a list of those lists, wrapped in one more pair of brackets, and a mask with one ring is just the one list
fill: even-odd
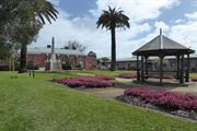
[(51, 23), (58, 11), (46, 0), (1, 0), (0, 39), (20, 44), (20, 72), (26, 69), (26, 45), (35, 40), (45, 19)]

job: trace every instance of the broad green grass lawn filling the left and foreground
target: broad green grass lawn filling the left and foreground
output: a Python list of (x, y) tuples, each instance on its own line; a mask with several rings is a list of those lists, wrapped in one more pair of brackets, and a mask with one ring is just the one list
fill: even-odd
[[(18, 79), (10, 79), (18, 75)], [(0, 72), (0, 131), (196, 131), (197, 123), (51, 83), (76, 73)]]

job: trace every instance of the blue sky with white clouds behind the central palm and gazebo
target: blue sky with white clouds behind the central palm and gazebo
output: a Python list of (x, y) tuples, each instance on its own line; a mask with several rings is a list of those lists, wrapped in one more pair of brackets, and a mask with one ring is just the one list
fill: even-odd
[(129, 29), (117, 31), (117, 58), (163, 34), (197, 49), (197, 0), (49, 0), (58, 9), (57, 22), (44, 25), (32, 47), (46, 47), (55, 36), (56, 47), (78, 40), (99, 57), (111, 56), (111, 34), (96, 28), (97, 17), (107, 7), (121, 8), (130, 17)]

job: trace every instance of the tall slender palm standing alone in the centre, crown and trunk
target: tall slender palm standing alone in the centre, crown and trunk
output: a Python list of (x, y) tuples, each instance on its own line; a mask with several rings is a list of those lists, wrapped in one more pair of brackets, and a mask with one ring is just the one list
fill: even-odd
[(104, 10), (102, 15), (99, 17), (96, 22), (97, 27), (102, 26), (102, 28), (106, 28), (111, 31), (112, 35), (112, 62), (111, 70), (116, 70), (116, 28), (119, 27), (130, 27), (129, 17), (124, 14), (124, 11), (115, 8), (112, 9), (108, 7), (108, 11)]

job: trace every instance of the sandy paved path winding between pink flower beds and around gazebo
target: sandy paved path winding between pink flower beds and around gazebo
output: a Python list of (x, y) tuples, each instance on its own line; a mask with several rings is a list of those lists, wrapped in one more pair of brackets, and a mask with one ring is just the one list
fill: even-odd
[[(94, 75), (94, 74), (88, 74), (88, 73), (78, 73), (79, 75)], [(105, 98), (115, 98), (117, 96), (120, 96), (124, 94), (124, 91), (128, 87), (134, 87), (134, 86), (147, 86), (147, 87), (153, 87), (153, 88), (166, 88), (169, 91), (173, 92), (182, 92), (182, 93), (196, 93), (197, 94), (197, 83), (190, 83), (187, 86), (181, 86), (178, 84), (176, 85), (171, 85), (171, 84), (164, 84), (164, 85), (154, 85), (154, 84), (137, 84), (134, 83), (131, 79), (120, 79), (116, 78), (116, 81), (118, 82), (115, 87), (107, 87), (107, 88), (89, 88), (84, 90), (88, 93), (92, 93)]]

